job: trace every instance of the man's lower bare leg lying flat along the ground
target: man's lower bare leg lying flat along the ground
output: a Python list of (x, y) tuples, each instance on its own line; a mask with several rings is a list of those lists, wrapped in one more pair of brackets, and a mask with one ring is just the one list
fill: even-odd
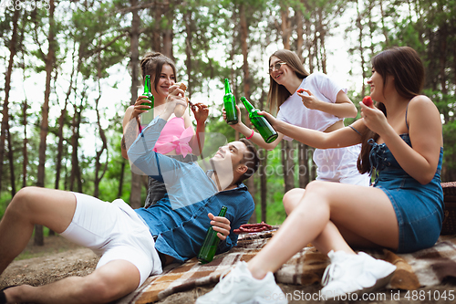
[(108, 303), (138, 288), (140, 271), (125, 260), (114, 260), (97, 268), (86, 277), (64, 278), (57, 282), (32, 287), (8, 288), (8, 303)]

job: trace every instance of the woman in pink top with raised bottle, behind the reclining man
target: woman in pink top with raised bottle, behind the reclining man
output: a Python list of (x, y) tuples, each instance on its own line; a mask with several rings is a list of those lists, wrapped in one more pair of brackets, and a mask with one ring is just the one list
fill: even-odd
[[(181, 90), (176, 85), (176, 67), (170, 58), (162, 55), (161, 53), (148, 53), (142, 58), (140, 62), (142, 73), (142, 80), (146, 75), (150, 75), (150, 92), (154, 97), (154, 116), (157, 117), (161, 113), (166, 98), (168, 97), (171, 87)], [(183, 95), (185, 92), (181, 90)], [(138, 97), (136, 103), (150, 102), (145, 96)], [(142, 106), (144, 112), (149, 110), (148, 106)], [(123, 119), (123, 128), (132, 118), (137, 118), (140, 113), (134, 112), (134, 106), (130, 106), (126, 111)], [(200, 155), (202, 150), (202, 133), (205, 131), (205, 124), (209, 109), (202, 103), (192, 104), (192, 112), (196, 120), (196, 133), (193, 131), (192, 120), (187, 110), (184, 111), (182, 117), (175, 117), (171, 115), (168, 123), (161, 131), (159, 140), (155, 144), (154, 151), (161, 154), (168, 155), (172, 158), (180, 160), (181, 162), (195, 162), (197, 155)], [(196, 136), (196, 135), (199, 136)], [(127, 147), (125, 138), (122, 139), (121, 144), (122, 156), (128, 159)], [(148, 195), (146, 198), (145, 207), (158, 202), (166, 194), (164, 183), (154, 180), (149, 177)]]

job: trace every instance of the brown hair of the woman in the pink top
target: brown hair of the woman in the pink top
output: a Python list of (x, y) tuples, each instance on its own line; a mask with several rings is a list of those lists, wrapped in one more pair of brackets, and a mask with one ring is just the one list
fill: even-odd
[(140, 68), (142, 74), (142, 82), (144, 82), (144, 79), (146, 79), (146, 75), (150, 75), (150, 81), (152, 81), (152, 83), (150, 83), (150, 86), (157, 90), (157, 85), (159, 83), (158, 80), (161, 76), (161, 68), (163, 68), (163, 65), (165, 64), (171, 66), (172, 72), (174, 73), (174, 77), (176, 78), (177, 82), (176, 66), (174, 65), (174, 62), (159, 52), (146, 53), (146, 55), (144, 55), (144, 58), (141, 59)]

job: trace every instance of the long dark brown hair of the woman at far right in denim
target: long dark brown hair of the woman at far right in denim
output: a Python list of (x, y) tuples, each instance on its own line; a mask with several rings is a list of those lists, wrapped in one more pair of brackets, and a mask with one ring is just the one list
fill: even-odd
[[(394, 78), (394, 87), (401, 97), (411, 100), (419, 95), (424, 86), (424, 66), (418, 53), (411, 47), (392, 47), (372, 58), (372, 68), (383, 79), (383, 89), (387, 76)], [(387, 110), (385, 105), (377, 102), (378, 110), (383, 111), (385, 116)], [(362, 148), (358, 158), (358, 170), (360, 173), (370, 171), (369, 153), (371, 146), (368, 140), (377, 142), (378, 134), (366, 130), (361, 134)]]

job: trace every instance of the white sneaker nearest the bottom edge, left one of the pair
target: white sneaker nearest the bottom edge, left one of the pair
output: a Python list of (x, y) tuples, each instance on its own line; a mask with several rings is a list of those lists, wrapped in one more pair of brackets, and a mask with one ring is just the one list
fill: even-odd
[(288, 303), (282, 289), (275, 284), (274, 275), (268, 272), (263, 279), (252, 277), (247, 263), (237, 262), (233, 270), (215, 287), (196, 300), (196, 304), (248, 304)]

